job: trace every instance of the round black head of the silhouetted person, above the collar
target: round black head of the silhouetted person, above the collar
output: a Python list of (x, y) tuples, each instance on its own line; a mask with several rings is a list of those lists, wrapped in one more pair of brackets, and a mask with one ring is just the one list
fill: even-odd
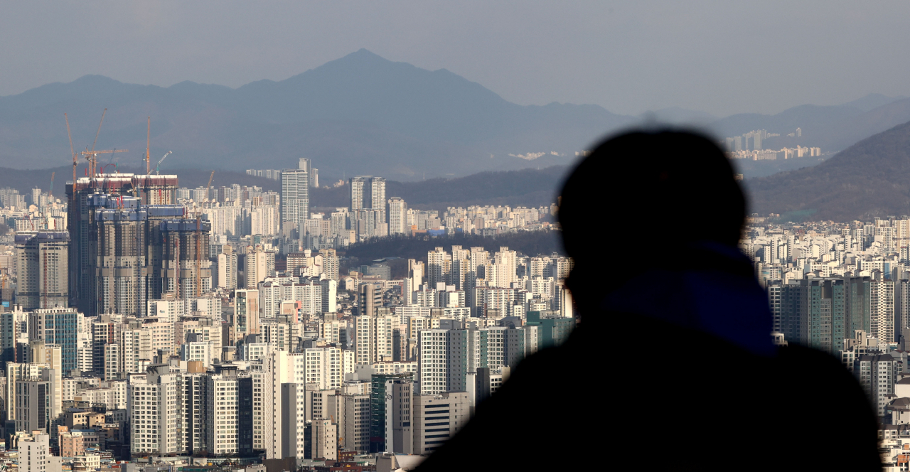
[(721, 149), (679, 131), (608, 139), (575, 168), (561, 197), (563, 243), (576, 265), (590, 258), (602, 267), (678, 264), (695, 242), (736, 246), (745, 217), (743, 191)]

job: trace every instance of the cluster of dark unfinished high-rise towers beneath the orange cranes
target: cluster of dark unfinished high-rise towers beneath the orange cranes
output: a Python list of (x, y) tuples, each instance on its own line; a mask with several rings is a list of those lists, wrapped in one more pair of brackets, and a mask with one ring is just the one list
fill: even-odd
[[(176, 291), (180, 297), (195, 296), (197, 286), (206, 286), (206, 282), (210, 286), (210, 270), (201, 270), (210, 262), (207, 257), (205, 262), (198, 260), (194, 252), (197, 244), (208, 250), (209, 226), (181, 218), (186, 210), (175, 205), (177, 176), (100, 174), (78, 178), (75, 185), (67, 182), (66, 194), (72, 240), (69, 295), (71, 305), (86, 316), (144, 316), (147, 299), (168, 291)], [(162, 226), (165, 221), (191, 226), (193, 235), (184, 236), (188, 243), (171, 234), (186, 233), (184, 226), (171, 230)], [(175, 259), (169, 244), (192, 247)], [(172, 283), (173, 277), (162, 272), (172, 265), (189, 270), (191, 290), (181, 290), (182, 280)], [(185, 275), (182, 269), (179, 278)]]

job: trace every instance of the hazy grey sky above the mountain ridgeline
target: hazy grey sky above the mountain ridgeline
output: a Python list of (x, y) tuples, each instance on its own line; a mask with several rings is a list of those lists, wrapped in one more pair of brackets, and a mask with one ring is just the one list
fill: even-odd
[(281, 80), (361, 47), (522, 105), (715, 115), (910, 95), (910, 2), (0, 0), (0, 95)]

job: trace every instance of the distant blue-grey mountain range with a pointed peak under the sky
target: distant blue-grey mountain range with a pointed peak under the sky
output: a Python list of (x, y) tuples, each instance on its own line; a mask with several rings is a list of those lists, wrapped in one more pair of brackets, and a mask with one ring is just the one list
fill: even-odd
[[(285, 80), (236, 89), (124, 84), (86, 75), (0, 97), (0, 166), (65, 166), (71, 157), (61, 115), (69, 115), (74, 144), (84, 149), (104, 107), (97, 147), (129, 149), (116, 157), (126, 166), (145, 155), (151, 115), (153, 159), (174, 151), (165, 170), (286, 168), (309, 157), (326, 181), (352, 174), (420, 180), (567, 166), (576, 151), (602, 136), (653, 120), (694, 123), (718, 137), (800, 126), (803, 146), (826, 151), (910, 120), (910, 99), (884, 95), (721, 119), (675, 107), (628, 116), (599, 105), (516, 105), (446, 69), (429, 71), (361, 49)], [(516, 157), (529, 153), (539, 157)]]

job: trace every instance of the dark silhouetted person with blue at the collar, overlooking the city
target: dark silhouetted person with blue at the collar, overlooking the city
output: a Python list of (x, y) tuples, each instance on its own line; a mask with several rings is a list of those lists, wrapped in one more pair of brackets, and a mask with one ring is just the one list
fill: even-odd
[(875, 414), (832, 356), (777, 347), (737, 249), (743, 191), (680, 132), (598, 146), (562, 188), (581, 319), (528, 357), (430, 470), (876, 470)]

